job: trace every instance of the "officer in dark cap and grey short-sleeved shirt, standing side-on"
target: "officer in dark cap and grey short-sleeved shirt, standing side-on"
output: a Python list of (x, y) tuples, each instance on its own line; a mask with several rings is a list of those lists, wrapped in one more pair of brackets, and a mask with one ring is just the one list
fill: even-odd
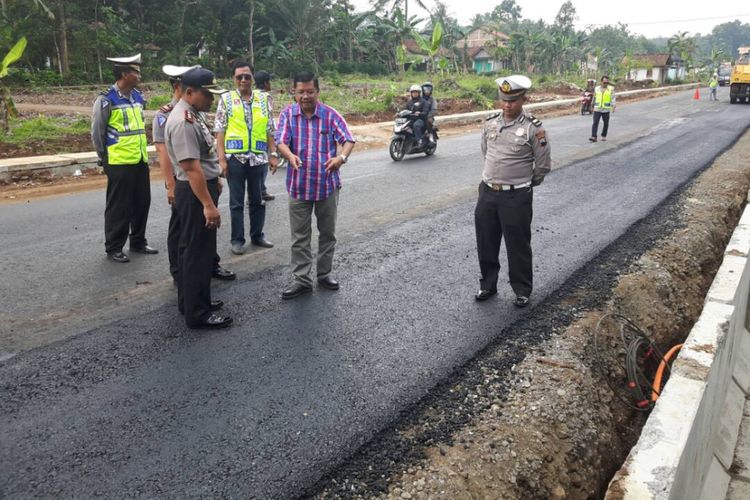
[(232, 318), (217, 311), (211, 300), (211, 271), (216, 255), (216, 230), (221, 225), (219, 160), (216, 141), (201, 112), (222, 94), (213, 72), (193, 68), (182, 75), (182, 98), (167, 119), (164, 137), (175, 169), (175, 205), (180, 218), (177, 255), (177, 301), (190, 328), (224, 328)]

